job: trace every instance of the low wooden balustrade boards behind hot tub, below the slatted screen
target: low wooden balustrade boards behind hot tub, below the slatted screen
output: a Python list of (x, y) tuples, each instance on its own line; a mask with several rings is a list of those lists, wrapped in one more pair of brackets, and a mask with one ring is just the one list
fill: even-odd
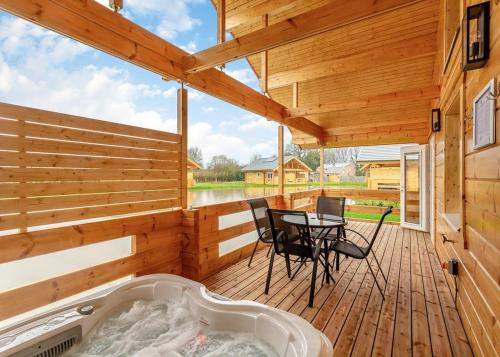
[(0, 263), (134, 237), (129, 256), (1, 292), (0, 320), (128, 275), (181, 274), (181, 224), (174, 210), (0, 236)]

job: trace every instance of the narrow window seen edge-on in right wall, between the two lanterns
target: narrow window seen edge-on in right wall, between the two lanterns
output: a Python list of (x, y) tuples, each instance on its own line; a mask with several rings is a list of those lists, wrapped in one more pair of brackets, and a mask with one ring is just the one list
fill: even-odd
[(445, 219), (455, 230), (461, 226), (462, 212), (462, 125), (457, 95), (444, 118), (444, 210)]

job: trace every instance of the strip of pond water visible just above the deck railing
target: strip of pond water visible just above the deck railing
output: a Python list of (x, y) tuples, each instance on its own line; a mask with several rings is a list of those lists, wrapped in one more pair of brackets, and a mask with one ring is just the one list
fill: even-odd
[[(285, 193), (305, 191), (317, 187), (285, 187)], [(188, 192), (188, 207), (205, 206), (215, 203), (241, 201), (248, 198), (278, 194), (278, 187), (224, 188), (214, 190), (194, 190)]]

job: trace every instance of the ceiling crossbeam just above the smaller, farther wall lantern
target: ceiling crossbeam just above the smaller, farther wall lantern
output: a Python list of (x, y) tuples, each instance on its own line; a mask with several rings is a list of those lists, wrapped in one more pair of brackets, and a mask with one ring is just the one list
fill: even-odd
[(290, 109), (290, 116), (305, 116), (321, 113), (330, 113), (342, 110), (366, 108), (369, 106), (384, 104), (404, 104), (406, 102), (439, 98), (439, 86), (429, 86), (424, 88), (409, 89), (398, 92), (389, 92), (379, 95), (372, 95), (364, 98), (354, 98), (347, 100), (331, 101), (325, 104), (317, 104)]

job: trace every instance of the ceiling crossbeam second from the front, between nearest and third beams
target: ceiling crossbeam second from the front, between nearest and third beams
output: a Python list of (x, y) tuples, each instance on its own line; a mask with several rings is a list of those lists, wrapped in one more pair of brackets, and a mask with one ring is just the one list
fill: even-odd
[(436, 50), (435, 34), (388, 43), (384, 46), (360, 51), (350, 56), (273, 73), (269, 76), (269, 89), (284, 87), (294, 82), (310, 81), (322, 77), (390, 65), (400, 61), (433, 56)]

